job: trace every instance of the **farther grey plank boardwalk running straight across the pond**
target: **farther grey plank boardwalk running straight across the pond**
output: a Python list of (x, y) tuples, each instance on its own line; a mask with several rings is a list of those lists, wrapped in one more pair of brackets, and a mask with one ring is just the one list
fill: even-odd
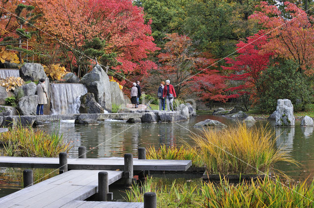
[[(186, 171), (191, 161), (133, 159), (133, 170)], [(0, 157), (0, 167), (59, 168), (59, 158)], [(68, 158), (68, 168), (83, 170), (123, 170), (124, 158)]]

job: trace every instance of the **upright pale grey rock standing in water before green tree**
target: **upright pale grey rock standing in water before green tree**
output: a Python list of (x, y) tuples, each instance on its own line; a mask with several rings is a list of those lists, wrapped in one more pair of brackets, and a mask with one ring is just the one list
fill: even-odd
[(293, 105), (288, 99), (277, 100), (276, 126), (294, 126)]

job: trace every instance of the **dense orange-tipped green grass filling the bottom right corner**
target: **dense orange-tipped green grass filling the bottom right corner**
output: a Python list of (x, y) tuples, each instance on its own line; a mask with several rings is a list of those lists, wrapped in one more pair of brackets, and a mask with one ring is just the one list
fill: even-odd
[(314, 183), (283, 185), (279, 179), (265, 179), (231, 185), (221, 181), (202, 187), (204, 208), (314, 208)]

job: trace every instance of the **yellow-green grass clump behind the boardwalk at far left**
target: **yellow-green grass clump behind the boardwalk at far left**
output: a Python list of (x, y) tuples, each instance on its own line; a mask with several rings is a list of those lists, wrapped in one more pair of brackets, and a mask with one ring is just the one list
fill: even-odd
[(0, 134), (4, 144), (4, 154), (16, 157), (56, 157), (60, 152), (68, 152), (72, 146), (64, 143), (58, 132), (51, 135), (31, 127), (17, 126)]

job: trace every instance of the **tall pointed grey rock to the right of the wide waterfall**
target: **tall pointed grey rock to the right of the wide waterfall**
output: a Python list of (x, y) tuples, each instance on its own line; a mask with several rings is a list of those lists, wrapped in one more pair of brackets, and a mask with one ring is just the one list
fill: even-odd
[(95, 95), (96, 101), (107, 111), (111, 111), (111, 92), (109, 77), (101, 66), (96, 65), (91, 72), (80, 80), (88, 92)]

